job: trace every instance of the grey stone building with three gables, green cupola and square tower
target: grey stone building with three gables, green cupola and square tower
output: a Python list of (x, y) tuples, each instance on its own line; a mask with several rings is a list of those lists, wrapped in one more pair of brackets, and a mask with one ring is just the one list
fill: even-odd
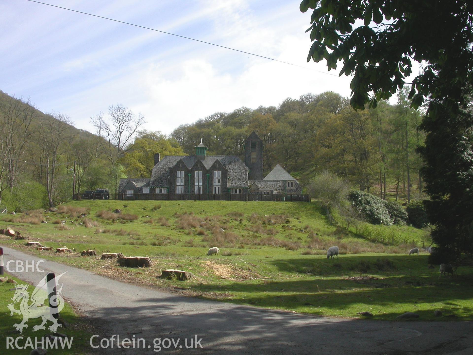
[(201, 142), (195, 155), (154, 155), (149, 179), (121, 179), (119, 193), (134, 194), (300, 194), (301, 188), (279, 164), (263, 178), (263, 141), (251, 133), (245, 162), (236, 155), (207, 155)]

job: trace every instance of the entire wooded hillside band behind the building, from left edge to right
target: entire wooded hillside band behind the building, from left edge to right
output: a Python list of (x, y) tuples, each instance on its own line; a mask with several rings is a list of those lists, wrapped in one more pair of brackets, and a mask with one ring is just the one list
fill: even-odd
[[(79, 130), (70, 117), (44, 114), (29, 100), (0, 91), (0, 207), (29, 210), (67, 201), (75, 192), (108, 188), (122, 177), (149, 177), (153, 153), (194, 154), (200, 139), (209, 154), (243, 158), (245, 138), (255, 131), (264, 142), (266, 175), (281, 164), (305, 185), (329, 170), (353, 186), (385, 197), (386, 186), (409, 196), (421, 189), (420, 113), (402, 91), (397, 105), (355, 111), (333, 92), (287, 98), (278, 107), (242, 107), (177, 127), (170, 136), (140, 130), (145, 118), (126, 106), (91, 117), (91, 130)], [(118, 126), (118, 129), (115, 127)], [(409, 184), (408, 182), (411, 182)]]

